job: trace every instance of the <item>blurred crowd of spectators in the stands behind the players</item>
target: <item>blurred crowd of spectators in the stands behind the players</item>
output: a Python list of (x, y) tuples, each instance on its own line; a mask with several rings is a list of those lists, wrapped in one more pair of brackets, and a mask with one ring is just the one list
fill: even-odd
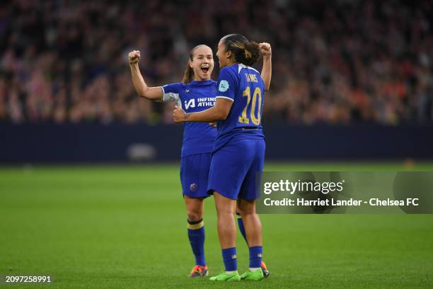
[[(432, 1), (31, 1), (0, 4), (0, 122), (171, 123), (139, 98), (229, 33), (272, 45), (265, 122), (433, 122)], [(214, 79), (217, 79), (217, 61)], [(260, 69), (261, 64), (257, 67)]]

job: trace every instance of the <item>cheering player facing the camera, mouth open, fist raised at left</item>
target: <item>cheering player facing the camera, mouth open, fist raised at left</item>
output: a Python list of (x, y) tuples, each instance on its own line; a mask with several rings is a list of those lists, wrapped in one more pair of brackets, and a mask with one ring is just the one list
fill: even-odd
[[(132, 82), (139, 96), (151, 101), (175, 101), (188, 112), (203, 111), (214, 106), (217, 82), (210, 79), (214, 69), (212, 50), (207, 45), (198, 45), (190, 52), (182, 83), (148, 87), (139, 71), (140, 52), (129, 52)], [(263, 64), (263, 73), (270, 71), (270, 63)], [(180, 181), (187, 209), (187, 232), (196, 266), (190, 277), (207, 276), (208, 268), (204, 258), (203, 200), (207, 194), (207, 178), (212, 147), (217, 131), (207, 123), (187, 123), (183, 133)], [(243, 231), (242, 220), (239, 222)], [(265, 274), (269, 274), (265, 263)]]

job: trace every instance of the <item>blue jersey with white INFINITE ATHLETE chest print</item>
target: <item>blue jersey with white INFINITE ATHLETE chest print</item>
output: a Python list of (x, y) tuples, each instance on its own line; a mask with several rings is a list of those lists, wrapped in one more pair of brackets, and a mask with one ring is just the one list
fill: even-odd
[[(213, 80), (162, 86), (163, 101), (176, 101), (186, 113), (196, 113), (215, 105), (217, 82)], [(182, 157), (212, 152), (217, 130), (209, 123), (185, 123)]]

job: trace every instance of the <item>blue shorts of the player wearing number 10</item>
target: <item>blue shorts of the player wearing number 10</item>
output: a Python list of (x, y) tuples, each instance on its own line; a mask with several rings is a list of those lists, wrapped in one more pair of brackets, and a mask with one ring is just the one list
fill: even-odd
[(212, 154), (208, 193), (217, 191), (226, 198), (255, 200), (257, 176), (263, 171), (265, 140), (232, 139)]

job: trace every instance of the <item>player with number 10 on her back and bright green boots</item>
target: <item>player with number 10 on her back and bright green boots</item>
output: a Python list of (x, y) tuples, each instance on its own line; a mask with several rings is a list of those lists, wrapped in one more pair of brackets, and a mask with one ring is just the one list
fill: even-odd
[[(270, 47), (268, 47), (270, 50)], [(264, 77), (250, 67), (260, 58), (260, 45), (239, 34), (221, 38), (217, 57), (221, 72), (213, 108), (196, 113), (185, 113), (176, 106), (173, 119), (183, 122), (218, 121), (218, 135), (214, 143), (208, 191), (214, 194), (218, 215), (218, 235), (226, 271), (210, 280), (261, 280), (262, 227), (255, 214), (256, 173), (262, 171), (265, 157), (265, 137), (261, 118), (265, 83), (270, 83), (270, 72)], [(266, 82), (265, 82), (265, 81)], [(234, 213), (243, 217), (250, 249), (250, 268), (238, 274), (236, 259), (236, 225)]]

